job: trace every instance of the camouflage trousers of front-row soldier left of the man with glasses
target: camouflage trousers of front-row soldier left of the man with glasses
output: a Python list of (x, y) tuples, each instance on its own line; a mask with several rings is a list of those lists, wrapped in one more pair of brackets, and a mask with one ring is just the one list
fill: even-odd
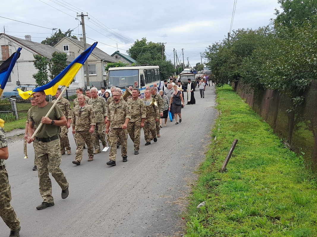
[(77, 143), (76, 160), (81, 162), (85, 143), (87, 144), (88, 157), (94, 158), (94, 145), (91, 133), (88, 131), (76, 131), (75, 139)]

